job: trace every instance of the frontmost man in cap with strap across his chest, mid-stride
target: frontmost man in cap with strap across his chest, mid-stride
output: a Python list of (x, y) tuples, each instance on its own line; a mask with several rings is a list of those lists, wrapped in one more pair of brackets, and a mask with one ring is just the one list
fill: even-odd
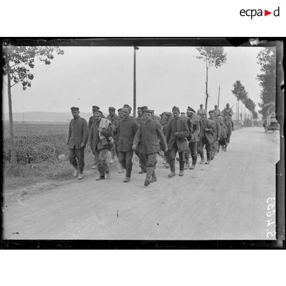
[(150, 182), (157, 180), (155, 168), (157, 164), (156, 156), (160, 150), (159, 139), (165, 152), (167, 152), (167, 142), (159, 122), (152, 119), (152, 110), (145, 109), (143, 114), (145, 122), (139, 124), (132, 149), (136, 150), (138, 146), (139, 152), (145, 157), (147, 172), (144, 186), (148, 186)]

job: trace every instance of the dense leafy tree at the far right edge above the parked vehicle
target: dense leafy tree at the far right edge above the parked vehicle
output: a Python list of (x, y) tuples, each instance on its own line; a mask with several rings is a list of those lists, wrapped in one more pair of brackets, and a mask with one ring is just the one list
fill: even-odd
[(266, 111), (269, 107), (265, 106), (272, 101), (275, 102), (275, 81), (276, 81), (276, 49), (274, 47), (263, 48), (257, 56), (260, 65), (261, 74), (257, 75), (261, 87), (261, 102), (258, 106), (261, 108), (259, 113), (266, 117)]

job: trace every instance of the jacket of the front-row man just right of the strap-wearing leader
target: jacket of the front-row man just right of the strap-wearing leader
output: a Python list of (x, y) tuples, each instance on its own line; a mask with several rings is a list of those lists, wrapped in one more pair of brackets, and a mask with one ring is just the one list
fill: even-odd
[[(174, 135), (178, 132), (178, 136)], [(186, 151), (189, 149), (189, 141), (187, 136), (189, 135), (189, 128), (187, 123), (187, 117), (172, 118), (169, 121), (166, 140), (168, 144), (168, 150), (171, 151), (173, 145), (177, 144), (178, 151)]]

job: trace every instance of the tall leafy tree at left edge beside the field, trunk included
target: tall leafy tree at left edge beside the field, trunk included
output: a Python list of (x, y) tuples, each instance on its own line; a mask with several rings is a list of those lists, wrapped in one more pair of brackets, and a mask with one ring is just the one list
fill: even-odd
[(38, 58), (46, 65), (51, 64), (54, 53), (64, 54), (64, 50), (59, 47), (30, 47), (30, 46), (3, 46), (3, 73), (7, 76), (8, 87), (8, 105), (9, 105), (9, 127), (11, 139), (11, 162), (12, 166), (16, 166), (17, 158), (15, 152), (15, 139), (13, 131), (13, 114), (12, 114), (12, 95), (11, 88), (18, 83), (22, 84), (23, 90), (31, 87), (31, 80), (34, 75), (30, 69), (34, 68), (34, 60)]

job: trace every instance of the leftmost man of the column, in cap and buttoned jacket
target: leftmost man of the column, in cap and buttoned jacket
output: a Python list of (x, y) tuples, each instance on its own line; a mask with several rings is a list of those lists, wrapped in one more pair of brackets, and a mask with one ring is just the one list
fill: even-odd
[(88, 140), (88, 124), (86, 119), (79, 116), (79, 108), (72, 107), (73, 119), (69, 124), (68, 149), (69, 161), (74, 168), (73, 176), (78, 179), (84, 177), (85, 147)]

